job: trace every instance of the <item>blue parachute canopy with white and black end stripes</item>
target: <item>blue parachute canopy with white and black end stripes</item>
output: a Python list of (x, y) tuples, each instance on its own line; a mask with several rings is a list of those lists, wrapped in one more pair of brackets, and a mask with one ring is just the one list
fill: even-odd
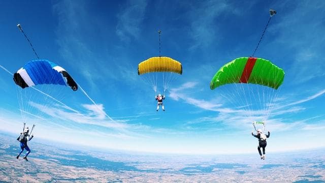
[(14, 74), (13, 79), (22, 88), (38, 84), (68, 84), (74, 91), (78, 89), (66, 70), (48, 60), (31, 60)]

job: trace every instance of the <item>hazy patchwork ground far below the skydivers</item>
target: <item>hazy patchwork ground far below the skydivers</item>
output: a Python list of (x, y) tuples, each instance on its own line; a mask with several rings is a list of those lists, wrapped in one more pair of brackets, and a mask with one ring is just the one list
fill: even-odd
[[(59, 144), (57, 144), (59, 146)], [(325, 149), (254, 155), (153, 155), (76, 150), (0, 134), (1, 182), (325, 182)]]

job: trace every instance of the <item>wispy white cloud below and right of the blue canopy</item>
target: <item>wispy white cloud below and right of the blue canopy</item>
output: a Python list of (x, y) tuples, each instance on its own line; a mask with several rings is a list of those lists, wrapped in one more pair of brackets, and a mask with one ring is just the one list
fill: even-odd
[[(61, 106), (54, 105), (42, 105), (35, 102), (29, 102), (29, 106), (34, 107), (35, 109), (43, 113), (42, 116), (28, 113), (31, 116), (35, 116), (42, 120), (47, 121), (50, 124), (56, 126), (73, 126), (73, 129), (81, 129), (84, 125), (87, 125), (87, 131), (93, 131), (96, 133), (109, 133), (110, 136), (114, 137), (123, 137), (123, 138), (148, 138), (146, 133), (152, 129), (152, 127), (143, 125), (141, 123), (128, 124), (128, 121), (131, 121), (132, 117), (135, 116), (124, 116), (124, 119), (115, 119), (106, 117), (104, 106), (99, 104), (98, 106), (83, 104), (82, 107), (86, 110), (85, 112), (75, 113), (68, 110), (65, 110)], [(52, 117), (51, 119), (46, 119), (44, 115)], [(151, 115), (151, 114), (150, 114)], [(153, 114), (152, 114), (153, 115)], [(144, 116), (144, 115), (137, 115)], [(126, 119), (125, 119), (126, 118)], [(53, 123), (53, 121), (60, 121), (60, 123)], [(104, 127), (104, 128), (98, 128)], [(63, 129), (63, 128), (62, 128)], [(83, 131), (83, 130), (82, 130)], [(141, 132), (141, 133), (140, 133)]]

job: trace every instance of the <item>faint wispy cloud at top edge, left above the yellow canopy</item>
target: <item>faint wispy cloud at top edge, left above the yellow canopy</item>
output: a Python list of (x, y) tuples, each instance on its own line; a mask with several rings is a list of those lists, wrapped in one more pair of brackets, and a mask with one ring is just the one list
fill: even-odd
[(117, 15), (116, 34), (122, 41), (139, 38), (146, 6), (146, 0), (127, 1), (123, 11)]

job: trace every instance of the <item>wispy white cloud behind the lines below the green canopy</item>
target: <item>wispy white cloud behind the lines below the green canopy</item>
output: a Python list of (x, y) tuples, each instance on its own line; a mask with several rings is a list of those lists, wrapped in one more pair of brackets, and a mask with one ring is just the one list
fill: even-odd
[(287, 121), (287, 119), (281, 118), (281, 116), (284, 114), (292, 115), (306, 110), (306, 107), (297, 105), (313, 100), (317, 97), (322, 96), (325, 93), (325, 90), (320, 90), (316, 94), (306, 97), (305, 99), (300, 99), (295, 102), (289, 102), (287, 104), (285, 104), (285, 102), (292, 100), (292, 98), (282, 97), (281, 100), (277, 100), (278, 103), (272, 104), (273, 106), (270, 109), (252, 109), (251, 106), (247, 105), (239, 107), (232, 105), (231, 108), (224, 107), (222, 103), (215, 103), (214, 101), (209, 102), (202, 99), (189, 98), (186, 94), (193, 93), (193, 90), (197, 90), (197, 85), (197, 82), (186, 82), (177, 88), (171, 89), (170, 97), (173, 100), (182, 100), (182, 102), (185, 102), (187, 104), (205, 110), (216, 111), (217, 113), (214, 117), (200, 117), (198, 119), (190, 120), (188, 121), (188, 123), (186, 123), (186, 128), (189, 128), (193, 124), (202, 123), (204, 125), (202, 125), (201, 128), (205, 128), (213, 124), (219, 124), (219, 128), (222, 128), (222, 126), (224, 125), (231, 126), (232, 128), (236, 129), (243, 129), (251, 128), (251, 124), (253, 121), (261, 120), (267, 121), (268, 127), (272, 130), (283, 131), (285, 129), (290, 128), (300, 128), (305, 126), (303, 121), (289, 122)]

